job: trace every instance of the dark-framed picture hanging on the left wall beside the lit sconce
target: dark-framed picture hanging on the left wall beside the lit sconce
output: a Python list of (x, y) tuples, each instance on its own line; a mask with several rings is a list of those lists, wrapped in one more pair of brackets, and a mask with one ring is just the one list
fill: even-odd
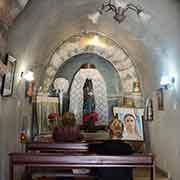
[(7, 54), (5, 59), (6, 74), (2, 78), (1, 95), (11, 96), (13, 93), (14, 73), (16, 68), (16, 59)]

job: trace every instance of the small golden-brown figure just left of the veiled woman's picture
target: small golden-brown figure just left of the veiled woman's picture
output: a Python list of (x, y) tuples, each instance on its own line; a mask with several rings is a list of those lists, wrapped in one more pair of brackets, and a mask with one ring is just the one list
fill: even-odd
[(120, 139), (123, 134), (124, 126), (123, 123), (118, 120), (117, 116), (109, 123), (110, 137), (112, 139)]

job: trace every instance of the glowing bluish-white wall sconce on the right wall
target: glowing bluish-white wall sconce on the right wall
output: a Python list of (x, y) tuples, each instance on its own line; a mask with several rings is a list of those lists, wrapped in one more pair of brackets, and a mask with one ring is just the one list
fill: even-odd
[(168, 77), (168, 76), (162, 76), (160, 81), (160, 87), (162, 89), (168, 90), (174, 87), (175, 84), (175, 78), (174, 77)]

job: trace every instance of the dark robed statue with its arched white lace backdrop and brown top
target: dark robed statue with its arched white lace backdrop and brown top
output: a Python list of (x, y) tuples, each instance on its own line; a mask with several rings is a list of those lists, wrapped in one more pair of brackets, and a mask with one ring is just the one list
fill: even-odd
[(81, 65), (75, 74), (70, 88), (69, 111), (75, 114), (77, 125), (83, 124), (85, 115), (95, 117), (96, 114), (96, 126), (108, 125), (106, 83), (94, 64)]

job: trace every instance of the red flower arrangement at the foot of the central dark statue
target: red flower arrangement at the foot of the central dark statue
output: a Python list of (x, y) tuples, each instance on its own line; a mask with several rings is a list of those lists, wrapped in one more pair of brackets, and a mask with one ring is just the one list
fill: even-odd
[(98, 120), (98, 113), (97, 112), (91, 112), (87, 115), (83, 116), (83, 124), (85, 127), (85, 130), (88, 132), (95, 132), (96, 126), (95, 122)]

